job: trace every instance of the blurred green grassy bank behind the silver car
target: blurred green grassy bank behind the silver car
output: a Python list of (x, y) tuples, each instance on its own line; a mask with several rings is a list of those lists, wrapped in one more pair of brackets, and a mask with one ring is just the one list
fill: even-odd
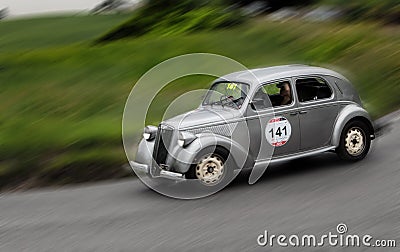
[[(249, 68), (327, 66), (353, 81), (374, 118), (400, 107), (398, 28), (387, 32), (372, 23), (257, 19), (218, 32), (93, 45), (94, 38), (124, 18), (0, 23), (0, 187), (32, 177), (47, 185), (124, 176), (121, 121), (129, 92), (147, 70), (181, 54), (221, 54)], [(147, 121), (159, 122), (174, 98), (207, 88), (210, 80), (174, 81), (156, 97)], [(141, 128), (140, 122), (132, 125), (136, 139)]]

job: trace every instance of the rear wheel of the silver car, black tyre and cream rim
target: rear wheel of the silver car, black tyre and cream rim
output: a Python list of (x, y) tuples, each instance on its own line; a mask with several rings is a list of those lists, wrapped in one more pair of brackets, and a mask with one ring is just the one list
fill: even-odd
[(361, 121), (352, 121), (343, 129), (337, 154), (343, 160), (358, 161), (365, 158), (370, 146), (368, 126)]

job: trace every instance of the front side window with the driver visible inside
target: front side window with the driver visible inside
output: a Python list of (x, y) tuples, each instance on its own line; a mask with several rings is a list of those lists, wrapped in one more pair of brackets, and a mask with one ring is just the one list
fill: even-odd
[(292, 104), (292, 89), (289, 81), (268, 83), (260, 87), (253, 98), (257, 110)]

